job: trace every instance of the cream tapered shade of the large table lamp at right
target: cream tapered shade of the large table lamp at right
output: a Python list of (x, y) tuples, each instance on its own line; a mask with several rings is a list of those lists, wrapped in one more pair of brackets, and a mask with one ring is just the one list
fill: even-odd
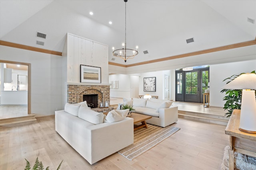
[(223, 89), (256, 89), (256, 74), (246, 73), (241, 74), (228, 84), (222, 87)]

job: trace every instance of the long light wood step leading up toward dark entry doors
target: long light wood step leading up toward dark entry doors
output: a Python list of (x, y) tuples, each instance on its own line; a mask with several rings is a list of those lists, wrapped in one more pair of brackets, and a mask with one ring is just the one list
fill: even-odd
[[(205, 114), (205, 115), (207, 115), (207, 114)], [(225, 125), (225, 126), (228, 125), (228, 120), (226, 120), (226, 119), (216, 119), (216, 118), (211, 118), (211, 117), (189, 115), (189, 114), (182, 114), (182, 113), (178, 113), (178, 117), (183, 118), (183, 119), (193, 120), (193, 121), (214, 123), (214, 124)]]

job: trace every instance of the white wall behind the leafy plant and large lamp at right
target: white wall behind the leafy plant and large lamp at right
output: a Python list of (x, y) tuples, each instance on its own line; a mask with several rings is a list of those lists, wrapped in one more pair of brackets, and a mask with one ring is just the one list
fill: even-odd
[(210, 106), (224, 106), (225, 101), (222, 99), (225, 94), (220, 91), (221, 87), (226, 84), (222, 82), (225, 78), (253, 70), (256, 70), (256, 60), (210, 65)]

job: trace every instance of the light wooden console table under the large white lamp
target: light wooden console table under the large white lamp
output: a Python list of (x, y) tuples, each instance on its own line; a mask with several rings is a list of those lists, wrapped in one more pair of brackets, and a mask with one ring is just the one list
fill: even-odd
[(230, 135), (229, 169), (234, 170), (234, 152), (256, 157), (256, 134), (239, 131), (240, 110), (235, 109), (228, 121), (225, 133)]

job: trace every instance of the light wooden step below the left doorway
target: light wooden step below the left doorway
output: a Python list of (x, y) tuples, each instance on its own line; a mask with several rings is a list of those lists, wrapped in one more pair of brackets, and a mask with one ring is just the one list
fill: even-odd
[(28, 121), (36, 121), (36, 115), (35, 114), (28, 114), (26, 116), (22, 117), (13, 117), (8, 119), (0, 119), (0, 126), (1, 125), (11, 125), (14, 123), (23, 123)]

